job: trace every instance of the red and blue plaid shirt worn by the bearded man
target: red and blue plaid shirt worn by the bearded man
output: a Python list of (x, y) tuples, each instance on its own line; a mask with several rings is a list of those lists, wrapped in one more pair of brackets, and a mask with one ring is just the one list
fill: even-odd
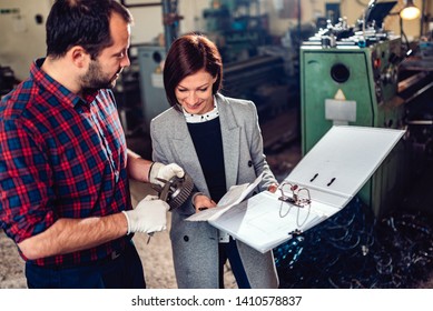
[[(42, 62), (0, 103), (0, 225), (17, 243), (60, 218), (131, 209), (125, 134), (111, 91), (80, 98), (46, 74)], [(129, 240), (35, 263), (95, 261)]]

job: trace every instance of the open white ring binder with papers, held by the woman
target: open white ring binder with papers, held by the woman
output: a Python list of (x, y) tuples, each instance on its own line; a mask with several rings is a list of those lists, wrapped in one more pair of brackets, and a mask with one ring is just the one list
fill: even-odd
[[(342, 210), (403, 134), (402, 130), (333, 127), (282, 182), (287, 183), (284, 189), (289, 184), (304, 189), (298, 192), (303, 198), (307, 198), (307, 189), (309, 204), (298, 207), (282, 201), (281, 190), (265, 191), (240, 203), (233, 200), (235, 204), (210, 209), (207, 214), (197, 213), (189, 220), (207, 220), (257, 251), (269, 251)], [(250, 188), (243, 185), (239, 198), (245, 198)]]

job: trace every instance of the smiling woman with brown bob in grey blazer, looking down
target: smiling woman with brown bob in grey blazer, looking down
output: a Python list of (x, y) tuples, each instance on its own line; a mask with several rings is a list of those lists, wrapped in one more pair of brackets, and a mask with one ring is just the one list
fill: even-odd
[(207, 222), (185, 221), (216, 207), (235, 184), (264, 173), (257, 191), (275, 191), (276, 179), (263, 153), (257, 110), (252, 101), (219, 93), (223, 62), (217, 47), (201, 34), (171, 44), (164, 86), (171, 106), (150, 124), (154, 161), (176, 162), (193, 178), (190, 200), (173, 211), (171, 244), (179, 288), (224, 288), (229, 261), (238, 288), (277, 288), (272, 251), (262, 254)]

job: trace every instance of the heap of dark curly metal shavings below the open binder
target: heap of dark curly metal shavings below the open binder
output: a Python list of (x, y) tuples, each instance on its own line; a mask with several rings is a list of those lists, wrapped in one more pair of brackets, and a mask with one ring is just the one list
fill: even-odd
[(433, 218), (398, 210), (377, 221), (355, 198), (274, 253), (282, 288), (417, 288), (433, 271)]

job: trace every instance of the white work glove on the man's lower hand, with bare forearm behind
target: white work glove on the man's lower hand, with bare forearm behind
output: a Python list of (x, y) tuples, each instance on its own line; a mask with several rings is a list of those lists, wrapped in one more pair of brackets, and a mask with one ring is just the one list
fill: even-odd
[(122, 211), (128, 221), (128, 232), (152, 233), (167, 229), (167, 211), (170, 207), (156, 195), (147, 195), (130, 211)]

